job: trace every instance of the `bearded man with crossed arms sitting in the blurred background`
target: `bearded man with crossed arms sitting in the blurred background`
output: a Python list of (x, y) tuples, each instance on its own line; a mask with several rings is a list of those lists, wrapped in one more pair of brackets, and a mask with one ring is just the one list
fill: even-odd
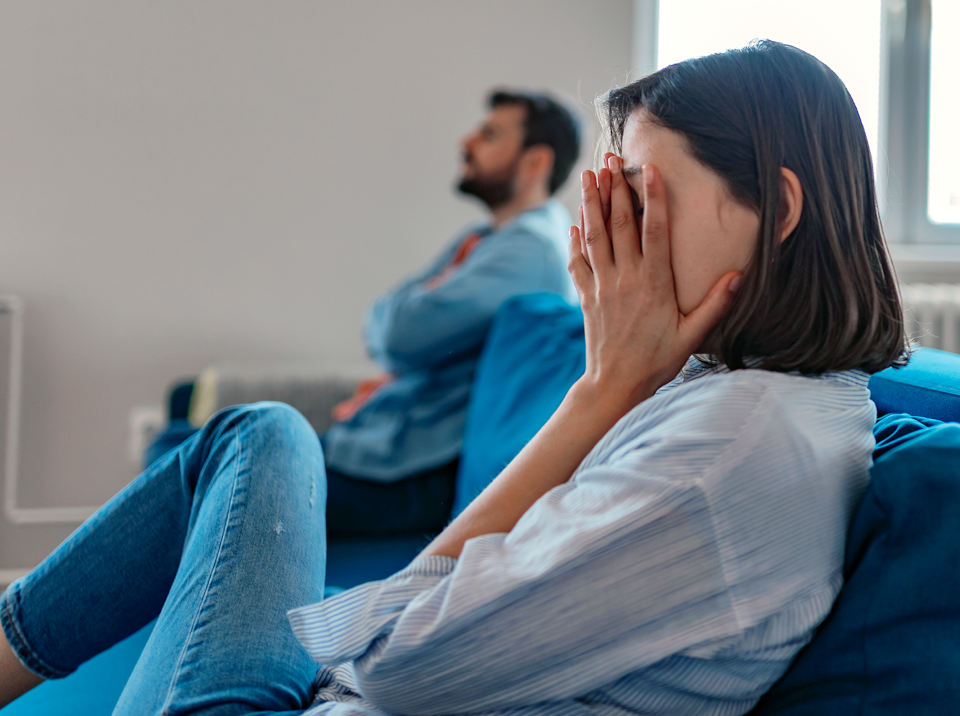
[[(525, 293), (575, 299), (566, 270), (571, 220), (551, 196), (579, 155), (577, 121), (542, 94), (495, 91), (488, 105), (461, 142), (457, 188), (483, 202), (489, 221), (377, 297), (364, 334), (387, 373), (338, 405), (321, 438), (331, 536), (439, 532), (453, 505), (467, 400), (494, 313)], [(184, 437), (168, 431), (148, 456)]]

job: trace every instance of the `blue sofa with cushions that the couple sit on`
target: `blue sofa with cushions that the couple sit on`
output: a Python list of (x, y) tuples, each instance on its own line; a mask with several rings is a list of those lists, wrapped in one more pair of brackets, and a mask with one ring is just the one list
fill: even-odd
[[(555, 296), (505, 305), (471, 397), (454, 511), (536, 433), (584, 369), (583, 320)], [(755, 716), (960, 713), (960, 356), (918, 350), (871, 378), (877, 450), (854, 515), (846, 585)], [(398, 570), (425, 537), (333, 542), (328, 583)], [(0, 716), (109, 714), (150, 626)]]

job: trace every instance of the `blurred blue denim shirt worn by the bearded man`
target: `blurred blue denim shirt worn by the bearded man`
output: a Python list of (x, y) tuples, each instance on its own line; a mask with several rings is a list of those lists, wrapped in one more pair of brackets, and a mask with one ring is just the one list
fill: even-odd
[[(570, 215), (556, 200), (495, 231), (470, 227), (436, 260), (381, 294), (367, 311), (370, 355), (394, 380), (324, 439), (328, 466), (394, 482), (460, 454), (477, 360), (497, 309), (525, 293), (575, 299), (566, 270)], [(425, 282), (450, 262), (465, 237), (488, 232), (437, 288)]]

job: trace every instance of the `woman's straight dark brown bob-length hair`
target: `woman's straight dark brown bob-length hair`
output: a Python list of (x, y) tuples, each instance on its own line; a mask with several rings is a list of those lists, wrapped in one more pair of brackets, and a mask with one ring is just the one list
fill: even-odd
[[(756, 357), (761, 368), (801, 373), (906, 362), (867, 137), (830, 68), (763, 40), (665, 67), (611, 91), (601, 110), (617, 154), (627, 120), (644, 110), (760, 217), (753, 260), (708, 341), (717, 361), (737, 369)], [(780, 167), (803, 188), (800, 222), (783, 241)]]

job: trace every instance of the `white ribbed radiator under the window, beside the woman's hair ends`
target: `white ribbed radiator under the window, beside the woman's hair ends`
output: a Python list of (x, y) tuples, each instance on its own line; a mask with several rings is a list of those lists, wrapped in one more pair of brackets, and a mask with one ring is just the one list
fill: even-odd
[(902, 284), (907, 332), (925, 348), (960, 353), (960, 284)]

